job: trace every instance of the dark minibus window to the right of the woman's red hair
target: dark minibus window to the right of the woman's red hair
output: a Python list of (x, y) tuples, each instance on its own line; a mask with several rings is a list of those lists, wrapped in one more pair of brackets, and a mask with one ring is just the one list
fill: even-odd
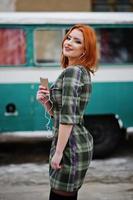
[(101, 28), (97, 34), (101, 63), (133, 63), (133, 28)]

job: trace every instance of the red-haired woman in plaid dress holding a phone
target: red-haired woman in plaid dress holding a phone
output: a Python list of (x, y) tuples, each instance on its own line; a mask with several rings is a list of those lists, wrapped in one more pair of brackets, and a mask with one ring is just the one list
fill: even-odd
[(50, 91), (39, 87), (37, 99), (54, 119), (49, 200), (76, 200), (90, 164), (93, 139), (83, 125), (83, 114), (91, 93), (90, 72), (96, 70), (96, 64), (94, 30), (86, 25), (75, 25), (62, 42), (63, 72)]

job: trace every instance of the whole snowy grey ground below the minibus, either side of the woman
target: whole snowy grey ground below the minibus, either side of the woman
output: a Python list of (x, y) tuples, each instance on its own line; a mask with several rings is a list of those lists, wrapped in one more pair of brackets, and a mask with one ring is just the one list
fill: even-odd
[[(40, 160), (29, 157), (30, 162), (23, 162), (21, 156), (18, 154), (19, 162), (12, 159), (11, 163), (0, 165), (0, 200), (48, 200), (47, 160), (42, 160), (40, 150), (33, 156), (40, 156)], [(78, 200), (112, 199), (133, 199), (132, 144), (126, 144), (109, 158), (93, 160), (78, 195)]]

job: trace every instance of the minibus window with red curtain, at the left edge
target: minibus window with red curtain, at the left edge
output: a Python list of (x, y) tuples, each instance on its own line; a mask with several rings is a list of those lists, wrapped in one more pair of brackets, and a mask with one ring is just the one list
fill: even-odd
[(26, 62), (26, 37), (21, 29), (0, 29), (0, 65)]

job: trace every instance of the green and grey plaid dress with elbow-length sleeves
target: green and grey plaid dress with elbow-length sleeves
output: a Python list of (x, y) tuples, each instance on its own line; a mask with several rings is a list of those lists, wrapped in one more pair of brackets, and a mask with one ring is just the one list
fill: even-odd
[(50, 88), (54, 112), (54, 137), (49, 161), (55, 153), (59, 124), (73, 124), (63, 152), (63, 167), (54, 170), (49, 166), (50, 185), (56, 190), (78, 190), (90, 164), (93, 139), (83, 125), (83, 114), (90, 92), (90, 73), (83, 66), (67, 67)]

